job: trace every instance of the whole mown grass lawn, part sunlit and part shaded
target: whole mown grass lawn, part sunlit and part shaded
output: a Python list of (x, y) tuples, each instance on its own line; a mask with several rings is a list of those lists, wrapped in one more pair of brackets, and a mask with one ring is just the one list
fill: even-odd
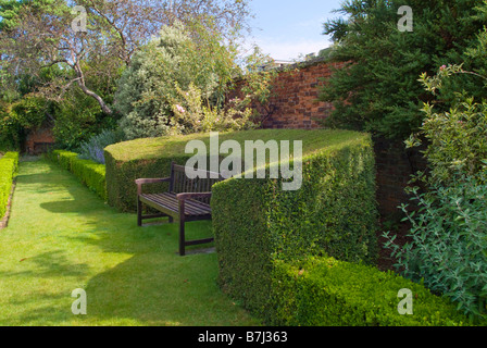
[[(0, 325), (259, 325), (216, 285), (215, 253), (180, 258), (177, 225), (137, 227), (68, 172), (21, 163), (0, 231)], [(211, 235), (211, 222), (187, 225)], [(74, 315), (74, 289), (87, 315)]]

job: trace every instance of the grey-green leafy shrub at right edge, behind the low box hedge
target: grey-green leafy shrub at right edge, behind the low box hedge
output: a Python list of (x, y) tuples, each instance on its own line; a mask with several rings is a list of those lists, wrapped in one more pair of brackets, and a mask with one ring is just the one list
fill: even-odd
[(447, 187), (433, 184), (427, 194), (412, 192), (417, 213), (402, 207), (412, 241), (399, 248), (385, 234), (398, 269), (453, 299), (465, 314), (487, 319), (487, 185), (464, 175)]

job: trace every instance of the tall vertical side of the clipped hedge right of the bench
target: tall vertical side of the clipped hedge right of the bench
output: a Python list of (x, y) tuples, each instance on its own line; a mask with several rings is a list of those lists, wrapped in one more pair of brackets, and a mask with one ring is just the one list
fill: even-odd
[(351, 262), (376, 260), (378, 214), (370, 136), (355, 134), (304, 156), (302, 179), (297, 191), (284, 191), (283, 179), (232, 178), (213, 186), (220, 286), (259, 316), (272, 312), (275, 260), (320, 254)]

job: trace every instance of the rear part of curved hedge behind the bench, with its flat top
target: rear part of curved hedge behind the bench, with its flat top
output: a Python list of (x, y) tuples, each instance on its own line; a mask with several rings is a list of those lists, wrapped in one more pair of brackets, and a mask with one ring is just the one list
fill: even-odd
[[(220, 133), (220, 141), (236, 140), (304, 140), (303, 153), (312, 153), (321, 148), (351, 141), (360, 134), (349, 130), (329, 129), (257, 129)], [(140, 177), (167, 177), (171, 162), (184, 165), (192, 154), (185, 153), (190, 140), (210, 144), (209, 134), (167, 136), (118, 142), (104, 149), (107, 165), (107, 195), (110, 206), (123, 212), (137, 210), (137, 188), (134, 181)], [(242, 147), (244, 148), (244, 147)], [(167, 189), (165, 184), (147, 185), (146, 189), (158, 191)]]

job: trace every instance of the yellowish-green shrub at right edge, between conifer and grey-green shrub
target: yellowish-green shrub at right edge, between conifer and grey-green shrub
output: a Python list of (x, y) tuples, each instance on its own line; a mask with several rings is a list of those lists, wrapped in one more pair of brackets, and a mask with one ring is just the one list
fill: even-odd
[[(423, 74), (421, 80), (426, 89), (440, 96), (445, 85), (453, 75), (475, 75), (461, 65), (444, 65), (437, 75)], [(438, 97), (439, 98), (439, 97)], [(448, 185), (455, 173), (476, 176), (485, 167), (487, 160), (487, 101), (474, 102), (473, 97), (455, 94), (452, 108), (438, 112), (438, 107), (426, 103), (423, 108), (425, 121), (417, 135), (407, 141), (410, 147), (427, 141), (425, 156), (429, 163), (428, 181)]]

